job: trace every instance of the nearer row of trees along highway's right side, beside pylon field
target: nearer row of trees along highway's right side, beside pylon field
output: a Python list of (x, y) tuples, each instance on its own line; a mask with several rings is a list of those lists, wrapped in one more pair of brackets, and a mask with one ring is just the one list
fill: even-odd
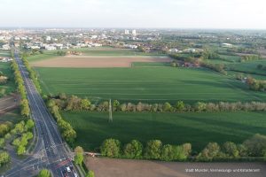
[(68, 122), (66, 122), (66, 120), (64, 120), (62, 118), (62, 116), (60, 115), (60, 112), (59, 112), (59, 107), (58, 107), (58, 105), (56, 105), (54, 100), (52, 100), (52, 99), (49, 100), (47, 102), (47, 106), (48, 106), (50, 112), (52, 113), (53, 117), (58, 122), (59, 130), (61, 132), (62, 137), (69, 144), (73, 144), (74, 139), (76, 138), (76, 132), (74, 131), (74, 128)]

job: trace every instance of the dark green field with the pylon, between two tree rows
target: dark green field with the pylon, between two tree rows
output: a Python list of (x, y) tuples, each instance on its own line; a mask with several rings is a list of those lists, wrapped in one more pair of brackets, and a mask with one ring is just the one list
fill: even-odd
[(106, 138), (121, 142), (137, 139), (147, 142), (160, 139), (164, 143), (192, 142), (193, 150), (201, 150), (207, 142), (242, 142), (256, 133), (265, 134), (265, 112), (219, 113), (127, 113), (114, 112), (113, 123), (108, 113), (62, 112), (77, 132), (74, 146), (97, 149)]

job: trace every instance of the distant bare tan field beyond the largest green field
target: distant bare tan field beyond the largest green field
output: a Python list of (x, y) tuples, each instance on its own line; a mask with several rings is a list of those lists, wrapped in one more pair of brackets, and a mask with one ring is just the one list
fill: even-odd
[(95, 57), (95, 56), (66, 56), (33, 62), (37, 67), (72, 67), (72, 68), (106, 68), (131, 67), (134, 62), (171, 62), (168, 57)]

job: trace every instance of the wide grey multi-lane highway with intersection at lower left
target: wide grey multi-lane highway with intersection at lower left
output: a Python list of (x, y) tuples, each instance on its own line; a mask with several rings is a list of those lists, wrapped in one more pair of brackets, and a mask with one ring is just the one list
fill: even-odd
[(35, 176), (43, 168), (50, 169), (54, 177), (74, 176), (75, 171), (64, 173), (66, 166), (74, 166), (71, 160), (73, 153), (62, 140), (57, 124), (44, 104), (42, 96), (35, 89), (33, 81), (30, 80), (18, 50), (14, 56), (27, 90), (31, 116), (35, 120), (36, 142), (32, 155), (18, 165), (12, 166), (4, 176)]

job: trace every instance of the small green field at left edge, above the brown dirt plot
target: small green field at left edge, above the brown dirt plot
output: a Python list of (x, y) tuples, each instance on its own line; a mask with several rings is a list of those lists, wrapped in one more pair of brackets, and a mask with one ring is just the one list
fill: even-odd
[(5, 94), (12, 93), (16, 90), (15, 81), (13, 78), (12, 69), (10, 63), (0, 63), (0, 71), (9, 78), (6, 84), (0, 84), (0, 89), (5, 89)]

